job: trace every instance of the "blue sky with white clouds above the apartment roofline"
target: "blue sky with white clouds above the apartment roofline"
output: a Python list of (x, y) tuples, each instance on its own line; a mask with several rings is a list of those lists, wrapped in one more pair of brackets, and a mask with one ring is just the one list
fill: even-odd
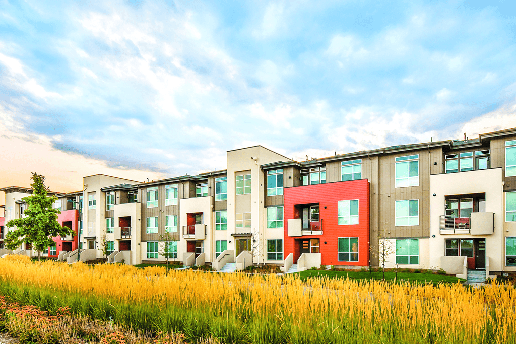
[(514, 1), (0, 0), (0, 187), (516, 127), (515, 40)]

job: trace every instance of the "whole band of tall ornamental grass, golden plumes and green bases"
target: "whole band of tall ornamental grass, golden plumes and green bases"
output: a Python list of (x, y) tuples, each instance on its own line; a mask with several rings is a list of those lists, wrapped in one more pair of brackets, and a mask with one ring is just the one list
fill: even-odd
[[(511, 343), (516, 291), (0, 259), (0, 294), (191, 342)], [(62, 308), (61, 308), (62, 309)]]

